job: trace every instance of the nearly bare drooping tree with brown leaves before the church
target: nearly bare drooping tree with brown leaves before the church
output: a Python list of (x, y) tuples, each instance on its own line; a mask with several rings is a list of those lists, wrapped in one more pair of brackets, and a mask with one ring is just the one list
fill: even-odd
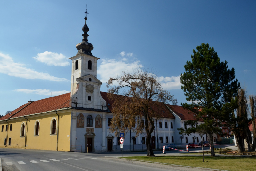
[[(170, 92), (163, 90), (157, 76), (148, 70), (137, 68), (134, 74), (123, 72), (123, 75), (110, 77), (107, 82), (108, 98), (114, 101), (110, 130), (119, 132), (132, 129), (136, 136), (146, 132), (147, 156), (154, 156), (151, 147), (151, 134), (154, 122), (168, 111), (165, 104), (177, 104)], [(118, 85), (114, 85), (117, 82)], [(122, 96), (120, 96), (122, 95)], [(145, 120), (144, 124), (141, 124)]]

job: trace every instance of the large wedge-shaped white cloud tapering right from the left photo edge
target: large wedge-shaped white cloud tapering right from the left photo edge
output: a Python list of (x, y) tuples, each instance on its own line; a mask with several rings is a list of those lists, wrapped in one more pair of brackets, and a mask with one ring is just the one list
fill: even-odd
[(26, 79), (68, 81), (66, 78), (58, 78), (48, 73), (40, 73), (30, 68), (26, 68), (25, 64), (14, 62), (8, 54), (6, 55), (3, 53), (0, 53), (0, 73)]

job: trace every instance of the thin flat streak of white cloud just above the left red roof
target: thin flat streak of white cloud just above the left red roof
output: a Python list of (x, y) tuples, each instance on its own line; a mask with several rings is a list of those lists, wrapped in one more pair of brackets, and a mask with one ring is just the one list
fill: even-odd
[(23, 93), (27, 93), (27, 94), (33, 93), (33, 94), (47, 95), (47, 96), (58, 96), (58, 95), (61, 95), (61, 94), (69, 93), (69, 91), (66, 91), (66, 90), (51, 91), (51, 90), (48, 90), (48, 89), (34, 89), (34, 90), (31, 90), (31, 89), (16, 89), (14, 91), (23, 92)]

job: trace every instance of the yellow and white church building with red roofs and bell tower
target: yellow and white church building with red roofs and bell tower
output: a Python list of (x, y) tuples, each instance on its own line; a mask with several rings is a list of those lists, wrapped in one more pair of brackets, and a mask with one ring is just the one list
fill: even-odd
[[(119, 139), (111, 133), (113, 101), (100, 91), (97, 60), (88, 42), (89, 28), (82, 28), (83, 39), (76, 45), (72, 60), (71, 91), (38, 101), (28, 101), (0, 118), (0, 148), (41, 149), (75, 152), (121, 151)], [(151, 146), (161, 148), (167, 143), (181, 145), (177, 128), (186, 128), (186, 120), (195, 120), (191, 111), (170, 105), (169, 111), (156, 122)], [(172, 110), (171, 110), (172, 108)], [(215, 138), (214, 138), (215, 139)], [(200, 142), (198, 135), (184, 136), (183, 145)], [(203, 141), (207, 141), (206, 135)], [(126, 131), (123, 150), (145, 150), (145, 136)]]

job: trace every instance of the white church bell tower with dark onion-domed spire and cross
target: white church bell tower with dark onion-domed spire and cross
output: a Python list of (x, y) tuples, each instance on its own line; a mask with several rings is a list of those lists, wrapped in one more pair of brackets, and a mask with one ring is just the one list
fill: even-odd
[(88, 42), (87, 14), (86, 10), (83, 39), (76, 45), (78, 52), (69, 58), (72, 60), (70, 103), (72, 107), (106, 110), (106, 101), (100, 94), (102, 82), (97, 79), (97, 60), (100, 58), (92, 55), (93, 45)]

